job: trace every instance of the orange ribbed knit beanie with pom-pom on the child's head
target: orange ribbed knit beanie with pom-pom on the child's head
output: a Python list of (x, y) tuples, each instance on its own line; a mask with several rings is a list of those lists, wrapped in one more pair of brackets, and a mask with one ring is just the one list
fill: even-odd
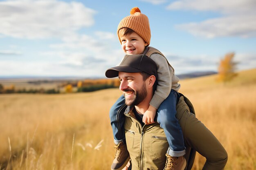
[(129, 28), (139, 34), (139, 36), (141, 36), (141, 38), (143, 38), (143, 40), (145, 40), (145, 42), (149, 45), (151, 33), (148, 17), (142, 14), (138, 7), (132, 8), (130, 14), (131, 15), (123, 18), (117, 27), (117, 36), (120, 43), (121, 40), (118, 34), (119, 30), (122, 28)]

